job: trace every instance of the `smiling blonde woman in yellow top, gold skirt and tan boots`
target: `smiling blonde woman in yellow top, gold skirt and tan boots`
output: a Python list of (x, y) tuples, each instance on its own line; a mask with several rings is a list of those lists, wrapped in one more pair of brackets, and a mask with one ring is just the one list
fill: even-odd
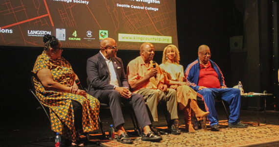
[(197, 105), (197, 92), (187, 86), (184, 82), (183, 66), (179, 65), (180, 55), (176, 46), (168, 45), (163, 50), (163, 59), (160, 68), (163, 69), (166, 79), (166, 84), (169, 88), (177, 90), (177, 101), (179, 108), (184, 111), (184, 120), (186, 130), (195, 132), (191, 123), (191, 109), (196, 114), (197, 118), (205, 117), (209, 112), (202, 111)]

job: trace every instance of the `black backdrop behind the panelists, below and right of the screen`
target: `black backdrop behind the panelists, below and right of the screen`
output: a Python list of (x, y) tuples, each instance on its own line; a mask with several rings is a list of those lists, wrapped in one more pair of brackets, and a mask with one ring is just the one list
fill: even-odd
[[(176, 0), (177, 32), (181, 64), (197, 59), (197, 48), (201, 44), (210, 47), (212, 57), (230, 83), (230, 42), (232, 36), (242, 35), (242, 13), (235, 9), (232, 0)], [(43, 44), (43, 42), (42, 42)], [(156, 48), (156, 47), (155, 47)], [(29, 93), (30, 71), (42, 48), (0, 47), (1, 88), (0, 113), (36, 109), (37, 102)], [(98, 49), (64, 49), (63, 56), (86, 84), (86, 60)], [(139, 51), (119, 50), (124, 66), (139, 55)], [(156, 51), (155, 59), (161, 63), (162, 51)], [(27, 114), (26, 114), (27, 115)]]

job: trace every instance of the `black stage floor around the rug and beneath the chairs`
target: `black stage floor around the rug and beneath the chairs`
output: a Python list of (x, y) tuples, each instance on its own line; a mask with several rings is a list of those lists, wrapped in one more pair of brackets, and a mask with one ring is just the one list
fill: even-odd
[[(219, 120), (226, 120), (226, 115), (222, 107), (216, 106)], [(3, 113), (3, 112), (1, 112)], [(109, 110), (103, 110), (100, 118), (105, 130), (112, 124)], [(133, 124), (129, 114), (124, 113), (126, 129), (132, 129)], [(163, 113), (160, 113), (160, 122), (154, 123), (156, 126), (166, 125)], [(267, 111), (267, 124), (279, 125), (279, 112)], [(179, 111), (180, 123), (184, 124), (183, 112)], [(264, 113), (260, 112), (260, 120), (264, 120)], [(256, 111), (241, 110), (241, 121), (257, 121)], [(201, 132), (202, 130), (198, 131)], [(50, 130), (50, 123), (42, 109), (32, 109), (23, 111), (7, 111), (1, 114), (0, 121), (0, 147), (53, 147), (54, 141), (44, 141), (36, 144), (28, 144), (35, 140), (53, 137)], [(194, 133), (192, 133), (194, 134)], [(94, 142), (90, 142), (86, 147), (100, 147)], [(257, 145), (251, 147), (279, 147), (279, 143)]]

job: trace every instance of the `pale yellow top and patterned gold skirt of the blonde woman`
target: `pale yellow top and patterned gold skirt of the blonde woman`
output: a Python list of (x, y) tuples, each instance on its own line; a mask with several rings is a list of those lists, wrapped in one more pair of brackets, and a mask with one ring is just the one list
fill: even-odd
[[(166, 74), (169, 80), (178, 81), (180, 77), (184, 77), (183, 66), (176, 63), (162, 63), (160, 68)], [(177, 87), (177, 102), (180, 110), (183, 110), (189, 99), (197, 99), (197, 92), (187, 85)]]

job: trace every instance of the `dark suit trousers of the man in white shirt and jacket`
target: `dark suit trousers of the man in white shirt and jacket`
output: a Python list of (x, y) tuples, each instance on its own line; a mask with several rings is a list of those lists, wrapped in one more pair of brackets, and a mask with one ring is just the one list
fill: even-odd
[(109, 104), (113, 121), (116, 127), (125, 123), (121, 110), (121, 102), (130, 104), (132, 106), (141, 128), (151, 124), (144, 99), (141, 95), (132, 93), (132, 97), (126, 99), (122, 98), (116, 90), (103, 90), (98, 99), (102, 103)]

